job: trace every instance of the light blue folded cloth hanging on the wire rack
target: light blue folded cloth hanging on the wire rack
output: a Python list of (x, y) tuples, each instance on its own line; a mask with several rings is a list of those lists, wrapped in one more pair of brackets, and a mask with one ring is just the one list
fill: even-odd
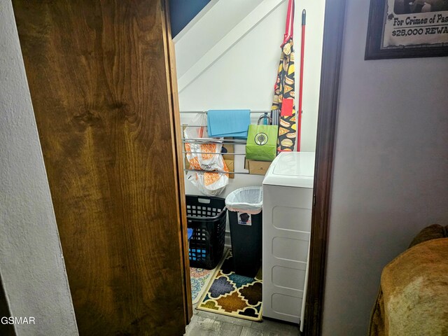
[(209, 137), (247, 138), (251, 110), (209, 110), (207, 132)]

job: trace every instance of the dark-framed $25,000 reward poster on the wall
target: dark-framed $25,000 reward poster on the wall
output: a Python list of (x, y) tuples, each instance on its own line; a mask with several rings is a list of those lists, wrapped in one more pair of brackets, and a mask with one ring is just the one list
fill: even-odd
[(370, 0), (364, 59), (448, 56), (448, 0)]

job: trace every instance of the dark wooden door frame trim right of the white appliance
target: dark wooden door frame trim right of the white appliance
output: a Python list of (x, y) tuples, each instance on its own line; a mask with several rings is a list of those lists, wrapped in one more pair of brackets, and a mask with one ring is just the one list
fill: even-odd
[(303, 321), (304, 335), (321, 335), (322, 332), (328, 218), (330, 214), (330, 190), (335, 147), (342, 37), (344, 35), (345, 3), (346, 0), (327, 0), (325, 3), (309, 275)]

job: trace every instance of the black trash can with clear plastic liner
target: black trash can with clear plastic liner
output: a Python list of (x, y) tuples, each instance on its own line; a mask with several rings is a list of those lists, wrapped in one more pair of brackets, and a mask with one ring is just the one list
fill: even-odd
[(235, 190), (225, 199), (235, 273), (255, 277), (262, 255), (262, 187)]

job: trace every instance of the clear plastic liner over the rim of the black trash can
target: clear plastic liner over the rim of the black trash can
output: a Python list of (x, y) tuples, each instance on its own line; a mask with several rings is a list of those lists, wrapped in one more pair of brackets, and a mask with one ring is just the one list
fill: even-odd
[(260, 214), (263, 207), (263, 188), (258, 186), (239, 188), (225, 197), (225, 206), (230, 211)]

